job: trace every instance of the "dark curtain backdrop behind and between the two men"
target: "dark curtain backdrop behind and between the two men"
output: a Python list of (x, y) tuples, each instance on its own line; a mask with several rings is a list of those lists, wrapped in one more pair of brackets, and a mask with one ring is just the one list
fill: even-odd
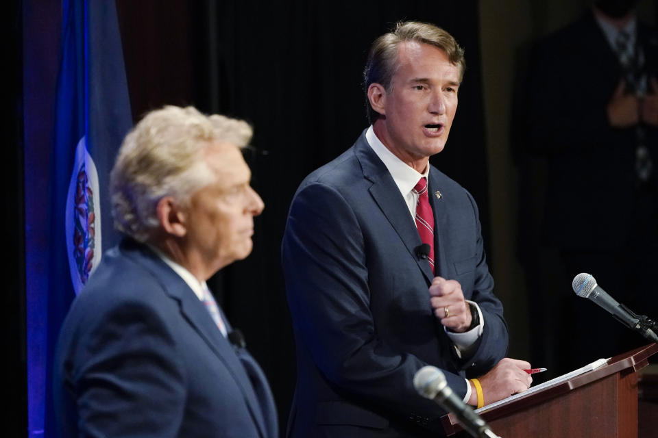
[[(432, 163), (476, 198), (488, 242), (478, 1), (118, 0), (135, 118), (164, 103), (254, 125), (252, 185), (265, 201), (254, 252), (211, 287), (263, 365), (282, 430), (295, 385), (280, 242), (302, 179), (367, 128), (361, 73), (371, 42), (400, 20), (435, 23), (465, 48), (467, 70), (446, 149)], [(263, 153), (267, 151), (267, 155)]]

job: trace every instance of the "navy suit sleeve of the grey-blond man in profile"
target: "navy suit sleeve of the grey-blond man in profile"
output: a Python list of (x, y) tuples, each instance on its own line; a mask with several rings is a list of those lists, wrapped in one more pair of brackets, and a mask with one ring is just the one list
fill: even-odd
[[(82, 437), (175, 437), (186, 391), (177, 347), (162, 315), (144, 302), (121, 303), (80, 333), (69, 362)], [(75, 368), (72, 368), (75, 364)]]

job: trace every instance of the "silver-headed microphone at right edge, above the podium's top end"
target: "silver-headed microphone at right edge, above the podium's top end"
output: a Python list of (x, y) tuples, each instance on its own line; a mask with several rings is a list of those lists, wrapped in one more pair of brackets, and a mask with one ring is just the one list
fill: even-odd
[(613, 315), (616, 320), (625, 326), (641, 333), (642, 336), (646, 337), (646, 339), (651, 342), (658, 342), (658, 336), (656, 336), (651, 329), (644, 326), (645, 324), (643, 323), (646, 318), (638, 317), (633, 311), (631, 311), (631, 309), (619, 304), (596, 283), (596, 279), (594, 279), (594, 276), (591, 274), (576, 275), (572, 287), (574, 288), (576, 295), (583, 298), (589, 298), (596, 302), (596, 304)]

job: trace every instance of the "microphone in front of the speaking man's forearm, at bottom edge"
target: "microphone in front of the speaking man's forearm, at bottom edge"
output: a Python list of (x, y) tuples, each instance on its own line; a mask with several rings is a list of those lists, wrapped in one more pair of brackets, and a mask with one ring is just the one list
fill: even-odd
[(491, 428), (480, 415), (463, 402), (446, 381), (441, 370), (430, 365), (424, 366), (413, 376), (413, 387), (418, 394), (437, 402), (446, 411), (454, 413), (459, 423), (476, 438), (500, 438), (491, 432)]

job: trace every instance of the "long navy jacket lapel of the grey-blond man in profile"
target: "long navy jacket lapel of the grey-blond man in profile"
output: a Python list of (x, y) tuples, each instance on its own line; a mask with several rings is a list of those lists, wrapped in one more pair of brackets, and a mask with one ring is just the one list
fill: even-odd
[[(187, 283), (147, 247), (136, 244), (127, 253), (129, 257), (154, 274), (168, 298), (178, 301), (180, 312), (185, 320), (204, 339), (210, 349), (215, 352), (215, 355), (224, 363), (236, 383), (238, 383), (245, 396), (247, 407), (249, 407), (249, 411), (252, 413), (252, 417), (254, 417), (254, 423), (256, 423), (260, 430), (260, 435), (267, 437), (268, 433), (265, 428), (263, 413), (260, 410), (260, 404), (256, 398), (254, 387), (251, 381), (249, 381), (249, 376), (247, 376), (243, 364), (236, 355), (234, 346), (230, 344), (228, 339), (223, 337), (203, 303)], [(226, 320), (221, 309), (220, 313), (222, 313), (222, 317), (227, 323), (227, 330), (230, 331), (228, 320)]]

